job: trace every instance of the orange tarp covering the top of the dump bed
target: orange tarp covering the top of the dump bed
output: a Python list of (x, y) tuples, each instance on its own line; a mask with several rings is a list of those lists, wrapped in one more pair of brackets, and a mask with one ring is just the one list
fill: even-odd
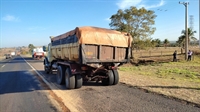
[(126, 33), (98, 27), (76, 27), (74, 30), (52, 38), (60, 40), (71, 35), (76, 35), (79, 44), (109, 45), (130, 47), (132, 37)]

